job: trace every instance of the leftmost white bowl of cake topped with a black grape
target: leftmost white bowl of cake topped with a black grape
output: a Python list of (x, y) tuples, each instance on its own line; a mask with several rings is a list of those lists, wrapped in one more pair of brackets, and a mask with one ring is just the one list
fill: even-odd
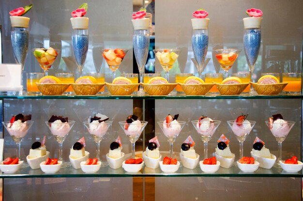
[(49, 152), (46, 151), (45, 139), (46, 136), (44, 136), (42, 142), (36, 141), (31, 145), (30, 154), (26, 156), (31, 169), (40, 168), (40, 163), (45, 161), (49, 156)]

